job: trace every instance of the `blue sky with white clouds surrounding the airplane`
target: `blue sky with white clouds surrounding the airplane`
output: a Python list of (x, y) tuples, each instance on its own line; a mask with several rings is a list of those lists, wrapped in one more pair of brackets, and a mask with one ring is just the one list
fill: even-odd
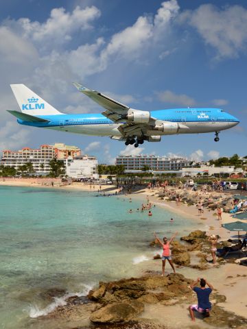
[[(216, 5), (215, 5), (216, 3)], [(100, 162), (118, 154), (196, 160), (246, 156), (246, 1), (1, 1), (0, 151), (55, 142)], [(61, 112), (101, 112), (81, 82), (140, 110), (220, 107), (240, 119), (213, 134), (163, 136), (139, 149), (109, 138), (18, 125), (10, 84), (24, 83)]]

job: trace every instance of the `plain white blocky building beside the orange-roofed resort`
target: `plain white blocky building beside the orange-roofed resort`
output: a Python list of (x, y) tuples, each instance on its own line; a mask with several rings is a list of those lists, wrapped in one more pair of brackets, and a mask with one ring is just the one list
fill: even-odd
[(66, 174), (75, 179), (98, 178), (97, 158), (95, 156), (75, 156), (66, 160)]

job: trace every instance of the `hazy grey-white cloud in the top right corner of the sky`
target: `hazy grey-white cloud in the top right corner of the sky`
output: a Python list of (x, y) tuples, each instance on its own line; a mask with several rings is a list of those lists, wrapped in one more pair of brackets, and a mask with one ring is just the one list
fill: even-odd
[(195, 27), (207, 45), (216, 51), (216, 58), (237, 58), (246, 51), (247, 10), (241, 5), (200, 5), (196, 10), (181, 14), (180, 22)]

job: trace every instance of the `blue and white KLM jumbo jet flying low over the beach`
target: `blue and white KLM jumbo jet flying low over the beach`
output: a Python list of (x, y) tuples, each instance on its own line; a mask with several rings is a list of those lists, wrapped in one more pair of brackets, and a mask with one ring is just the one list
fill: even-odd
[(59, 112), (24, 84), (11, 84), (21, 112), (8, 110), (21, 125), (42, 127), (60, 132), (90, 136), (110, 136), (139, 147), (144, 141), (160, 142), (161, 136), (219, 132), (234, 127), (239, 120), (220, 108), (174, 108), (142, 111), (115, 101), (110, 97), (73, 83), (81, 93), (105, 110), (102, 114), (65, 114)]

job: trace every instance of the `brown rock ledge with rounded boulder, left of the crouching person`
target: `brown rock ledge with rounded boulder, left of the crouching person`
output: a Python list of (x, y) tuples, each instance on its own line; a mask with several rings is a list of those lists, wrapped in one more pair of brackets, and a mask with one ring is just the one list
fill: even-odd
[(143, 303), (155, 304), (191, 295), (191, 280), (180, 273), (169, 276), (144, 276), (114, 282), (100, 282), (88, 295), (100, 308), (91, 315), (98, 324), (115, 324), (135, 319), (143, 311)]

